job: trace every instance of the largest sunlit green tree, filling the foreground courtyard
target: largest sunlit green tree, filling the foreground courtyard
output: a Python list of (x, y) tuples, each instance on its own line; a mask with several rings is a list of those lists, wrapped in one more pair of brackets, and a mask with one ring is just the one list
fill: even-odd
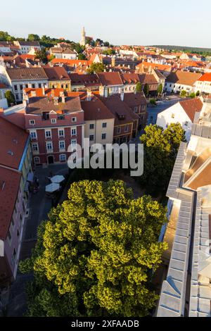
[(118, 180), (75, 182), (68, 200), (41, 223), (28, 289), (29, 316), (146, 316), (158, 296), (152, 270), (167, 244), (158, 242), (166, 208), (150, 196), (132, 199)]

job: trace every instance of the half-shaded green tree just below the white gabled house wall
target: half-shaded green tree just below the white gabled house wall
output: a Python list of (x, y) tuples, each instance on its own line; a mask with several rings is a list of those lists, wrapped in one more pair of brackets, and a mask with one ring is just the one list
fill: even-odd
[(185, 132), (179, 123), (172, 123), (166, 130), (158, 125), (148, 125), (140, 139), (144, 148), (140, 183), (151, 194), (165, 193), (179, 144), (185, 141)]

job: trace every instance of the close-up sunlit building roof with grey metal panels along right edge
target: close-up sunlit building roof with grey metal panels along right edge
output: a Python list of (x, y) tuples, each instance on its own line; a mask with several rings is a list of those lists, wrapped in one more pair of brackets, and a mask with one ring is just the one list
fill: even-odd
[(181, 143), (170, 185), (167, 277), (158, 317), (211, 317), (211, 99), (204, 99), (190, 142)]

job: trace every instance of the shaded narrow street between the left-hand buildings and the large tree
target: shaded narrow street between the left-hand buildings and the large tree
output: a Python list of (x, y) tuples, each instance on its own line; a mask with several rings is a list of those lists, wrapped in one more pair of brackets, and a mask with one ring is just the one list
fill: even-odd
[[(34, 176), (39, 179), (39, 192), (30, 194), (29, 217), (25, 219), (23, 242), (20, 250), (20, 261), (29, 258), (31, 251), (37, 242), (37, 227), (42, 220), (46, 220), (51, 210), (51, 199), (45, 195), (46, 176), (49, 172), (53, 175), (65, 175), (68, 173), (68, 165), (49, 165), (48, 168), (37, 168)], [(18, 270), (15, 282), (11, 285), (8, 295), (8, 317), (23, 316), (26, 311), (25, 289), (27, 282), (32, 280), (33, 275), (23, 275)]]

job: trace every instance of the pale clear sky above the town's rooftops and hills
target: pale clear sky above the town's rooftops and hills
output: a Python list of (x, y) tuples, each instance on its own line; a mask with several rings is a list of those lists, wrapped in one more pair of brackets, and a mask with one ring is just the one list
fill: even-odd
[(211, 0), (10, 0), (0, 6), (0, 30), (15, 37), (87, 35), (111, 44), (211, 48)]

